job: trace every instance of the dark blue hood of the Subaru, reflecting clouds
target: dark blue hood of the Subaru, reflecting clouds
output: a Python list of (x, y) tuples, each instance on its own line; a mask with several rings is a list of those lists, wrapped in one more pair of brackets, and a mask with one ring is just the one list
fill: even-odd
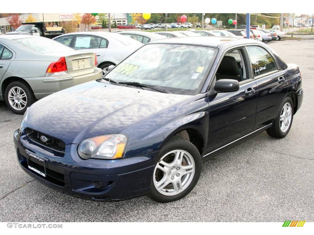
[(35, 102), (24, 127), (78, 144), (85, 138), (119, 133), (188, 97), (91, 81)]

